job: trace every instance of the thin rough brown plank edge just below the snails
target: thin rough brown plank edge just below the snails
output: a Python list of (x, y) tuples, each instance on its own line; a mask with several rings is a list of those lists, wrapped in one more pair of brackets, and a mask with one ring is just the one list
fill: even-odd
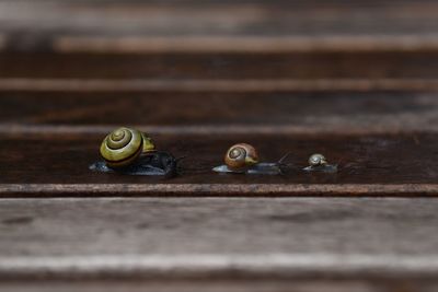
[[(146, 180), (147, 182), (147, 180)], [(436, 197), (437, 184), (0, 184), (0, 197)]]

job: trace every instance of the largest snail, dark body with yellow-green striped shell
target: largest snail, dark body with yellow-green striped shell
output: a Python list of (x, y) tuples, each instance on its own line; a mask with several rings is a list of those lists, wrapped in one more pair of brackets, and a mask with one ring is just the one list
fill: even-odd
[(169, 152), (157, 151), (152, 139), (139, 130), (114, 130), (102, 141), (100, 152), (104, 161), (93, 163), (92, 171), (166, 177), (177, 173), (177, 160)]

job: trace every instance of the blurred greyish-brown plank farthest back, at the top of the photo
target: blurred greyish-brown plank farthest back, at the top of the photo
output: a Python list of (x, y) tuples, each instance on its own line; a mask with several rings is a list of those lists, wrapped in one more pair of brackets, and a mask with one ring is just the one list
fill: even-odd
[[(437, 3), (427, 0), (354, 3), (5, 0), (0, 2), (0, 23), (11, 50), (253, 50), (266, 48), (266, 44), (277, 49), (309, 43), (315, 48), (336, 38), (341, 43), (346, 38), (347, 47), (353, 48), (361, 48), (357, 46), (360, 43), (365, 47), (374, 44), (408, 48), (423, 44), (422, 47), (436, 48), (437, 10)], [(181, 36), (188, 44), (177, 42)], [(335, 47), (344, 48), (336, 42)]]

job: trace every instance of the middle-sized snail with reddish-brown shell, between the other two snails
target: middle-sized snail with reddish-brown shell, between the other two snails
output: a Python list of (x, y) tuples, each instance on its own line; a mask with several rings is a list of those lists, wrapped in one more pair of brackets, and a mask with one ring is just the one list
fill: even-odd
[(212, 168), (217, 173), (237, 173), (237, 174), (283, 174), (287, 168), (284, 163), (286, 154), (278, 162), (266, 163), (258, 162), (258, 154), (254, 147), (247, 143), (238, 143), (228, 149), (224, 156), (224, 165)]

